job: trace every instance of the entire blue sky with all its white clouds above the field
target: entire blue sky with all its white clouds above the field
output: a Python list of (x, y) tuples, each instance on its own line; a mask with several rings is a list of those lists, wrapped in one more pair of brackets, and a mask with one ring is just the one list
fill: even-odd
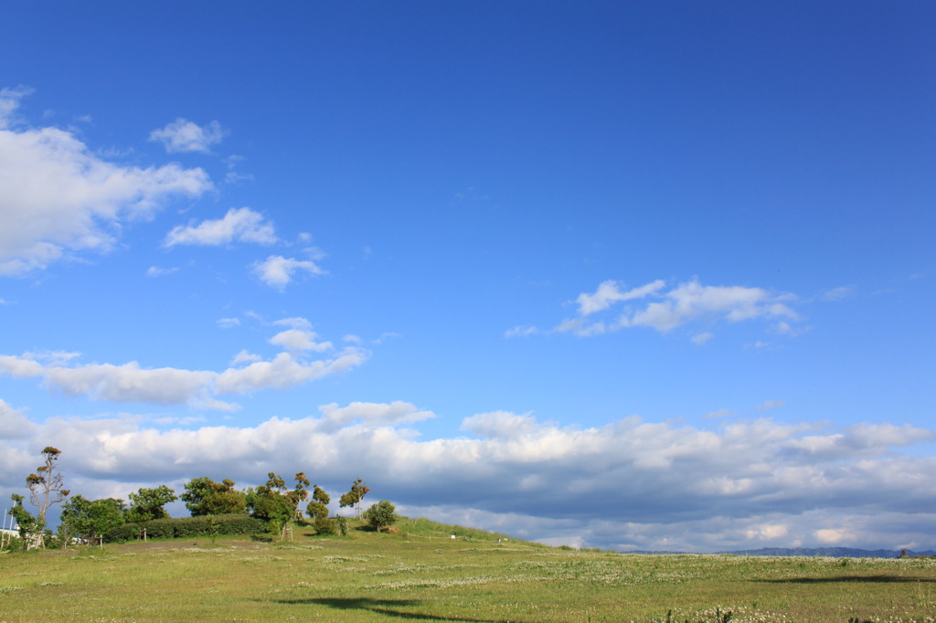
[(54, 445), (86, 497), (936, 546), (931, 3), (0, 23), (4, 499)]

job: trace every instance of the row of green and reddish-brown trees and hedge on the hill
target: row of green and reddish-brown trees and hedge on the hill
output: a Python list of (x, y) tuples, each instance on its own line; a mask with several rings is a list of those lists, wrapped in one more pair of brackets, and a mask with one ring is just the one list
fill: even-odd
[[(64, 487), (62, 474), (56, 472), (56, 462), (61, 454), (57, 448), (46, 447), (42, 451), (44, 464), (26, 477), (29, 500), (37, 507), (35, 515), (23, 506), (23, 496), (12, 496), (14, 506), (9, 514), (19, 524), (24, 547), (45, 545), (46, 538), (51, 534), (46, 529), (46, 514), (53, 504), (62, 502), (59, 536), (63, 541), (72, 537), (97, 539), (125, 523), (168, 518), (165, 506), (175, 500), (183, 500), (192, 516), (250, 514), (266, 521), (271, 531), (278, 532), (281, 538), (290, 522), (303, 519), (301, 505), (308, 501), (305, 513), (312, 519), (315, 529), (319, 532), (335, 531), (335, 520), (329, 518), (329, 494), (320, 486), (312, 485), (301, 471), (296, 474), (295, 484), (291, 487), (286, 485), (280, 475), (271, 471), (264, 485), (243, 490), (235, 488), (231, 480), (224, 479), (218, 483), (201, 476), (185, 483), (181, 496), (177, 496), (167, 485), (159, 485), (154, 488), (141, 487), (127, 496), (127, 502), (114, 498), (87, 500), (80, 495), (69, 499), (71, 492)], [(341, 508), (353, 508), (358, 517), (363, 516), (375, 529), (387, 528), (396, 521), (393, 505), (387, 500), (381, 500), (361, 513), (361, 501), (370, 491), (370, 487), (357, 478), (351, 489), (341, 497), (339, 505)]]

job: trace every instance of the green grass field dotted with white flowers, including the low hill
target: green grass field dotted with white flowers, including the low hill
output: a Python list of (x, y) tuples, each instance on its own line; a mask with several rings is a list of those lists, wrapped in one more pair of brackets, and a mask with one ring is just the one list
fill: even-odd
[(936, 621), (936, 560), (642, 556), (398, 529), (7, 553), (0, 621)]

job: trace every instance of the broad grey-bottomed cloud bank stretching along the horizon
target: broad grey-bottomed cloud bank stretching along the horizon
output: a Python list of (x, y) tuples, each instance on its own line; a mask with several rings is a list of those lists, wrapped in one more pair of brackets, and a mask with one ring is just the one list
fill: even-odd
[[(361, 475), (402, 508), (551, 543), (712, 551), (932, 538), (936, 458), (898, 452), (936, 439), (925, 428), (762, 418), (705, 430), (636, 416), (582, 428), (492, 412), (463, 420), (472, 437), (422, 440), (414, 427), (433, 415), (402, 401), (332, 403), (250, 427), (51, 418), (27, 435), (41, 447), (53, 431), (89, 486), (205, 473), (247, 485), (302, 470), (341, 491)], [(833, 451), (802, 452), (806, 440)], [(0, 440), (0, 456), (23, 441)]]

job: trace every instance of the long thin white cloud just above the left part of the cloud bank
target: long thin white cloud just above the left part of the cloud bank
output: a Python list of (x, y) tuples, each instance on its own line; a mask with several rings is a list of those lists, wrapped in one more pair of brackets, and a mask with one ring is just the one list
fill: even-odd
[[(282, 335), (282, 333), (280, 334)], [(271, 340), (288, 345), (289, 340)], [(300, 351), (323, 351), (314, 348)], [(41, 379), (53, 392), (108, 402), (154, 405), (187, 404), (203, 409), (233, 411), (239, 405), (214, 398), (219, 394), (247, 394), (263, 389), (285, 389), (352, 369), (367, 358), (365, 351), (348, 347), (324, 359), (308, 359), (301, 352), (283, 352), (265, 360), (241, 351), (231, 367), (221, 372), (177, 368), (149, 369), (136, 361), (121, 365), (78, 365), (76, 354), (0, 355), (0, 374), (15, 379)], [(243, 366), (243, 364), (247, 364)]]

